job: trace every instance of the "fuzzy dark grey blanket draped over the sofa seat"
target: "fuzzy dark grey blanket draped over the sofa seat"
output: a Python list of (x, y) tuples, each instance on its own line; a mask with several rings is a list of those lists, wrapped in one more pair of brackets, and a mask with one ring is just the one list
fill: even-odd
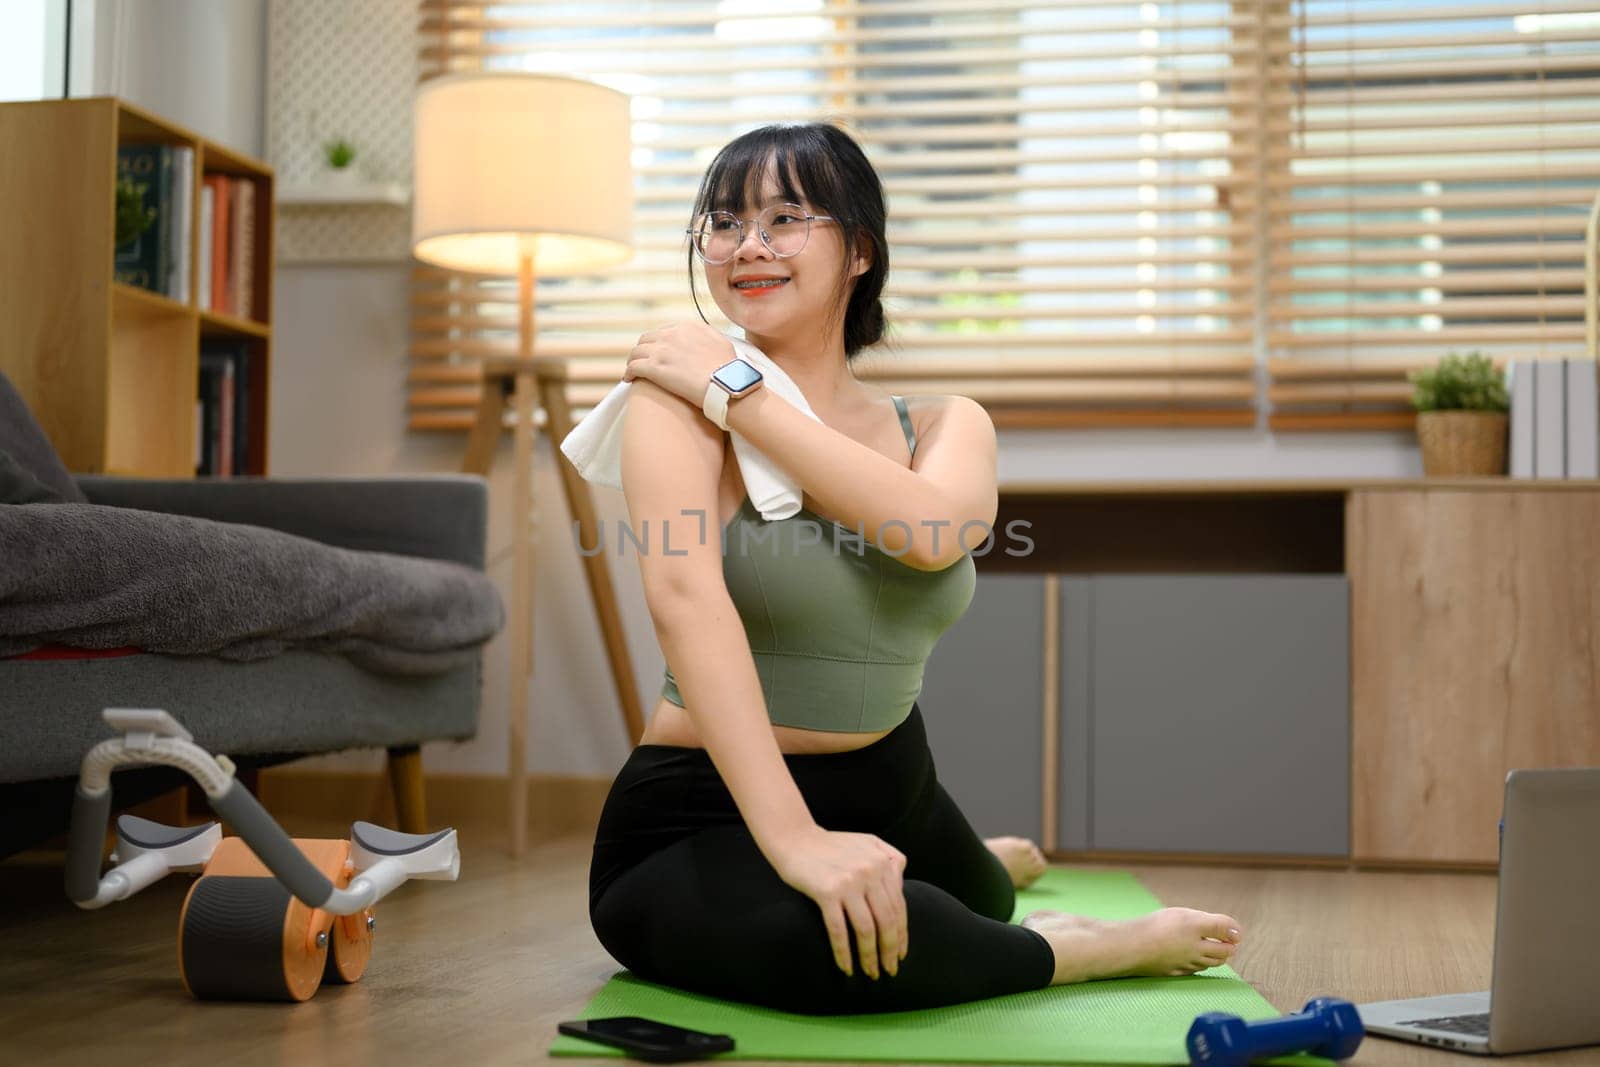
[(434, 673), (475, 657), (502, 621), (494, 585), (459, 563), (130, 507), (0, 506), (0, 656), (70, 645), (248, 661), (304, 648)]

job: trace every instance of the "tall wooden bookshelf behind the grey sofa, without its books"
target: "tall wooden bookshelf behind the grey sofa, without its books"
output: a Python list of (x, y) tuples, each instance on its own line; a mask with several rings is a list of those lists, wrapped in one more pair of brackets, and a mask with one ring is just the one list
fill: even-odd
[[(67, 469), (182, 478), (195, 472), (200, 347), (245, 346), (248, 462), (267, 474), (272, 360), (272, 168), (126, 101), (0, 104), (0, 370)], [(182, 299), (114, 278), (117, 149), (194, 149), (189, 286)], [(200, 310), (206, 174), (254, 184), (251, 315)]]

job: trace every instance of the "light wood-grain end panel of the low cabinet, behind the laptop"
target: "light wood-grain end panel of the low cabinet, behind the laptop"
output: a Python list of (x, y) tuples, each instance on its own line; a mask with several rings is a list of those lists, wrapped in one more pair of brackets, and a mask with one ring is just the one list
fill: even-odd
[(1600, 490), (1350, 498), (1352, 856), (1499, 854), (1512, 768), (1600, 765)]

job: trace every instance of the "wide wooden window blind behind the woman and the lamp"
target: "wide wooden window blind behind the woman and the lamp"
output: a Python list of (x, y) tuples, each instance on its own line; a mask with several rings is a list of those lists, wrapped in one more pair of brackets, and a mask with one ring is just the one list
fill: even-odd
[[(421, 70), (632, 96), (635, 258), (538, 285), (536, 350), (570, 360), (578, 416), (640, 333), (696, 315), (683, 229), (715, 150), (829, 120), (888, 194), (890, 336), (858, 376), (1002, 426), (1250, 426), (1269, 8), (422, 0)], [(411, 307), (411, 426), (466, 427), (478, 360), (515, 355), (515, 282), (418, 266)]]

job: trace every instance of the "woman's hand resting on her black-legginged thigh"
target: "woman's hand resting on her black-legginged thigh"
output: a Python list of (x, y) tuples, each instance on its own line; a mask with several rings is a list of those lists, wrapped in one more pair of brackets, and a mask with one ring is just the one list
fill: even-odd
[(856, 929), (861, 969), (869, 977), (878, 977), (880, 961), (891, 976), (899, 973), (909, 945), (901, 881), (904, 853), (870, 833), (818, 825), (786, 838), (774, 851), (778, 877), (822, 909), (834, 961), (845, 974), (853, 973), (850, 926)]

